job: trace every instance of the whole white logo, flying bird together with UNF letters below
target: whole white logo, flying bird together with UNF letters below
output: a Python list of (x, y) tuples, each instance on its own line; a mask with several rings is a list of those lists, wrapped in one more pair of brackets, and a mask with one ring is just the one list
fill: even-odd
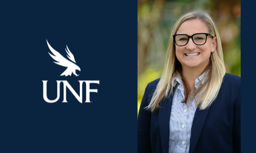
[[(47, 40), (46, 40), (47, 41)], [(72, 75), (72, 73), (74, 75), (76, 75), (76, 77), (78, 77), (79, 75), (76, 74), (76, 70), (79, 70), (80, 71), (80, 67), (78, 67), (75, 63), (75, 58), (73, 56), (73, 54), (70, 52), (68, 46), (67, 46), (67, 49), (66, 49), (66, 52), (67, 52), (67, 56), (68, 58), (72, 61), (69, 61), (67, 60), (66, 58), (64, 58), (62, 55), (60, 55), (55, 49), (52, 48), (52, 46), (48, 43), (47, 41), (47, 44), (48, 44), (48, 47), (50, 48), (51, 52), (53, 53), (50, 54), (49, 52), (49, 55), (57, 62), (54, 62), (58, 65), (61, 65), (61, 66), (65, 66), (67, 67), (67, 69), (60, 74), (60, 76), (62, 75), (65, 75), (65, 77), (67, 77), (68, 75)], [(57, 98), (54, 99), (54, 100), (50, 100), (48, 99), (47, 97), (47, 81), (48, 80), (42, 80), (42, 83), (43, 83), (43, 97), (45, 99), (46, 102), (48, 103), (55, 103), (56, 101), (58, 101), (59, 99), (59, 95), (60, 95), (60, 83), (62, 82), (63, 83), (63, 101), (62, 103), (68, 103), (67, 101), (67, 88), (69, 88), (69, 90), (71, 91), (71, 93), (76, 97), (76, 99), (82, 103), (82, 84), (83, 82), (86, 83), (86, 101), (85, 103), (91, 103), (90, 101), (90, 92), (98, 92), (97, 89), (90, 89), (90, 84), (99, 84), (99, 80), (98, 81), (85, 81), (85, 80), (82, 80), (82, 81), (79, 81), (80, 83), (80, 96), (75, 92), (75, 90), (71, 87), (71, 85), (68, 83), (68, 81), (58, 81), (57, 80)]]

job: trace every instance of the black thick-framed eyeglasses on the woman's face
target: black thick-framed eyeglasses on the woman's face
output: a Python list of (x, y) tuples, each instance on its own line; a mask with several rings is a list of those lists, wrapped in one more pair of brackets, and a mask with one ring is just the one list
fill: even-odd
[(203, 45), (207, 40), (207, 36), (211, 36), (211, 38), (214, 38), (214, 36), (207, 33), (198, 33), (192, 36), (188, 36), (185, 34), (178, 34), (178, 35), (174, 35), (174, 41), (178, 46), (184, 46), (188, 43), (189, 38), (192, 38), (193, 42), (196, 45)]

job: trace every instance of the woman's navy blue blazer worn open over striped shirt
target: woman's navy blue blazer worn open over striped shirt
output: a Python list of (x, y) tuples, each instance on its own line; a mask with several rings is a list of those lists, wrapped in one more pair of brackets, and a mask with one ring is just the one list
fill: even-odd
[[(145, 108), (159, 79), (149, 83), (138, 116), (138, 152), (168, 153), (173, 94), (151, 113)], [(226, 73), (217, 98), (203, 111), (197, 108), (191, 127), (189, 153), (241, 152), (241, 78)]]

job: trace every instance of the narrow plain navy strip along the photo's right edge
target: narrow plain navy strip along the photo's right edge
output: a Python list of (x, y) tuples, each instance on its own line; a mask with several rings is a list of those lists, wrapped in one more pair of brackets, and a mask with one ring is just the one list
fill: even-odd
[(242, 1), (241, 3), (241, 152), (255, 152), (256, 49), (255, 38), (252, 36), (255, 32), (255, 5), (255, 1)]

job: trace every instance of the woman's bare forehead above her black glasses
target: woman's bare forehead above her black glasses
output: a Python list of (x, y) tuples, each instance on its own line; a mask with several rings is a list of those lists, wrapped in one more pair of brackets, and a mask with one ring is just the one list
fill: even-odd
[(196, 33), (209, 33), (206, 24), (199, 19), (191, 19), (181, 23), (176, 34), (193, 35)]

